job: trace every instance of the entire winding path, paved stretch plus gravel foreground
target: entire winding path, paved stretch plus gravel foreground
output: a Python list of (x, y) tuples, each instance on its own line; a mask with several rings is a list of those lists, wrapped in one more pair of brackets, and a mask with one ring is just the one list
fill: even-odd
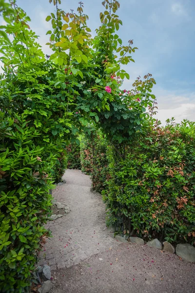
[(40, 264), (52, 271), (51, 293), (194, 293), (195, 264), (145, 245), (119, 243), (105, 229), (101, 196), (89, 176), (67, 170), (53, 192), (71, 212), (47, 228), (53, 237)]

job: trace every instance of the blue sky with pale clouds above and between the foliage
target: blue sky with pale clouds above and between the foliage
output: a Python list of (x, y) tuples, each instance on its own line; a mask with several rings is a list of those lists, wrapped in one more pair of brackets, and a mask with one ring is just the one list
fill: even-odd
[[(61, 0), (61, 8), (76, 11), (79, 0)], [(83, 0), (84, 12), (89, 15), (89, 27), (95, 35), (99, 26), (101, 0)], [(130, 81), (153, 74), (156, 79), (154, 94), (158, 102), (156, 118), (163, 123), (174, 116), (176, 121), (195, 121), (195, 0), (119, 0), (119, 18), (123, 26), (119, 35), (124, 44), (133, 39), (138, 51), (133, 55), (136, 63), (126, 66)], [(31, 28), (40, 36), (45, 53), (50, 28), (45, 18), (55, 10), (49, 0), (18, 0), (30, 16)]]

